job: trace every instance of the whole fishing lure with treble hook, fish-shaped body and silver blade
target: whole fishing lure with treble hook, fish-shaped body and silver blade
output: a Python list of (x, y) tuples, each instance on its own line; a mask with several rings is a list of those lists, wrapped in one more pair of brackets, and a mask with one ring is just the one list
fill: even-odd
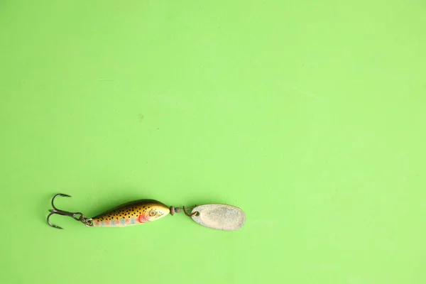
[[(87, 218), (81, 212), (68, 212), (55, 207), (56, 197), (70, 197), (62, 193), (55, 195), (52, 199), (52, 207), (48, 214), (48, 224), (53, 228), (62, 229), (50, 222), (53, 214), (69, 216), (82, 222), (86, 226), (104, 226), (104, 227), (124, 227), (138, 224), (145, 224), (161, 219), (168, 214), (172, 215), (184, 212), (195, 222), (202, 226), (224, 231), (234, 231), (240, 229), (246, 223), (246, 214), (238, 207), (226, 204), (204, 204), (191, 208), (167, 207), (157, 200), (136, 200), (121, 204), (117, 207), (107, 210), (92, 218)], [(188, 212), (190, 210), (190, 212)]]

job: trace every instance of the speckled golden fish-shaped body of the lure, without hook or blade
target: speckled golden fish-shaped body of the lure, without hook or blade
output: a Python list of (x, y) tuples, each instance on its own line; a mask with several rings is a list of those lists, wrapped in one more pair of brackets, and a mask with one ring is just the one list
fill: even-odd
[(92, 218), (93, 226), (133, 226), (167, 216), (170, 209), (156, 200), (136, 200), (121, 204)]

